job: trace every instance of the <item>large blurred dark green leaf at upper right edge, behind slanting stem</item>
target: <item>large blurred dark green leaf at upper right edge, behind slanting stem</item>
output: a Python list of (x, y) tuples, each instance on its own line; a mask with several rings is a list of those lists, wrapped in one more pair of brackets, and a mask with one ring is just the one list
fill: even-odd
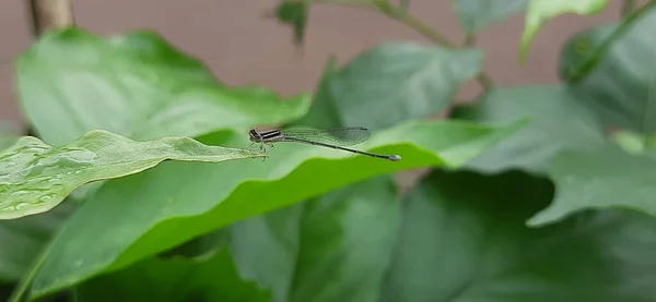
[[(561, 75), (608, 126), (652, 133), (656, 131), (656, 69), (645, 62), (656, 60), (656, 40), (652, 38), (656, 3), (611, 39), (618, 26), (605, 25), (574, 36), (563, 50)], [(605, 46), (608, 39), (611, 44)], [(608, 49), (600, 51), (604, 47)]]

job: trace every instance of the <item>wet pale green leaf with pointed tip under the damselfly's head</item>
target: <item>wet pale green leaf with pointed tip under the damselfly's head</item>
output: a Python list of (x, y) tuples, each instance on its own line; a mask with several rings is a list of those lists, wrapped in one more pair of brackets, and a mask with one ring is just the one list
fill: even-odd
[(24, 136), (0, 152), (0, 219), (47, 212), (87, 182), (138, 173), (166, 159), (220, 162), (263, 156), (187, 137), (136, 142), (101, 130), (61, 147)]

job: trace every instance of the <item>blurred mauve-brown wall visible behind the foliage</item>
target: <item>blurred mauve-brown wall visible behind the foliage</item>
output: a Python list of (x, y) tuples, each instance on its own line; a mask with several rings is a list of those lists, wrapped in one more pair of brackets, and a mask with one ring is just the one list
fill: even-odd
[[(78, 24), (93, 32), (155, 29), (202, 59), (221, 81), (232, 85), (258, 83), (282, 94), (312, 90), (329, 55), (336, 53), (344, 62), (380, 41), (423, 40), (412, 29), (375, 12), (321, 4), (312, 9), (304, 56), (297, 57), (291, 29), (262, 17), (277, 1), (73, 0), (73, 9)], [(11, 60), (32, 39), (26, 2), (0, 1), (0, 120), (11, 120), (15, 129), (23, 119), (15, 102)], [(567, 36), (616, 20), (620, 7), (620, 0), (611, 0), (596, 16), (570, 14), (548, 23), (522, 67), (517, 64), (517, 45), (523, 15), (497, 23), (478, 39), (487, 50), (484, 69), (502, 85), (555, 83), (559, 51)], [(411, 11), (453, 41), (464, 40), (449, 0), (412, 0)], [(476, 90), (475, 85), (467, 85), (462, 93), (471, 96)]]

